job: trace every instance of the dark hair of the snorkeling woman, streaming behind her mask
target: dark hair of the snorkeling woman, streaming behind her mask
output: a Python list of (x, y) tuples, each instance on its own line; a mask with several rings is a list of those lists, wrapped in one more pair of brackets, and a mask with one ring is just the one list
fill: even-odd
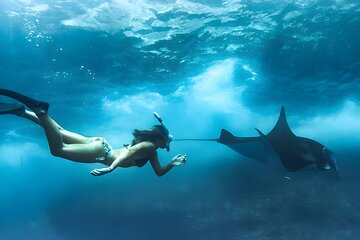
[(151, 129), (148, 130), (139, 130), (135, 129), (133, 131), (134, 139), (131, 142), (131, 145), (135, 145), (144, 141), (155, 141), (157, 139), (166, 139), (168, 136), (168, 131), (162, 125), (154, 125)]

